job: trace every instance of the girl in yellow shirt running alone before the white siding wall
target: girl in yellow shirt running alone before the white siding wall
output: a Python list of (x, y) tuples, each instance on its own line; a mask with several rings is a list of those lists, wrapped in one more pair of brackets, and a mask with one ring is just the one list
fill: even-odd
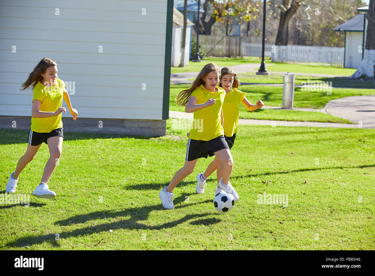
[(66, 112), (65, 107), (62, 107), (63, 99), (68, 105), (74, 121), (77, 119), (78, 111), (72, 108), (65, 83), (57, 78), (57, 64), (52, 59), (43, 57), (22, 84), (22, 87), (21, 90), (33, 87), (31, 127), (26, 153), (18, 161), (15, 171), (9, 176), (6, 192), (15, 192), (18, 176), (26, 165), (33, 160), (40, 145), (44, 142), (48, 145), (50, 156), (44, 167), (40, 184), (34, 190), (33, 195), (38, 198), (52, 199), (56, 194), (49, 190), (47, 183), (55, 170), (63, 145), (61, 113)]

